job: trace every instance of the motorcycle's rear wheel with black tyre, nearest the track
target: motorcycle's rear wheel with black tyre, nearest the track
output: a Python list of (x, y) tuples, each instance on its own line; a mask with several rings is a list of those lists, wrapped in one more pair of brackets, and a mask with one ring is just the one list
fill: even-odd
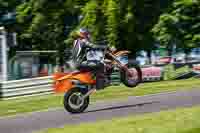
[(83, 100), (81, 97), (85, 93), (80, 88), (73, 88), (64, 95), (64, 108), (70, 113), (82, 113), (89, 105), (89, 96)]

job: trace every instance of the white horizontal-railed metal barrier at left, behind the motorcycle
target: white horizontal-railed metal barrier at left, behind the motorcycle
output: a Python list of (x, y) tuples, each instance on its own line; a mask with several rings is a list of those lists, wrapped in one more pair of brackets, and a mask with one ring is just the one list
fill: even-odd
[(52, 93), (53, 77), (4, 81), (0, 83), (0, 98), (11, 98), (25, 95)]

